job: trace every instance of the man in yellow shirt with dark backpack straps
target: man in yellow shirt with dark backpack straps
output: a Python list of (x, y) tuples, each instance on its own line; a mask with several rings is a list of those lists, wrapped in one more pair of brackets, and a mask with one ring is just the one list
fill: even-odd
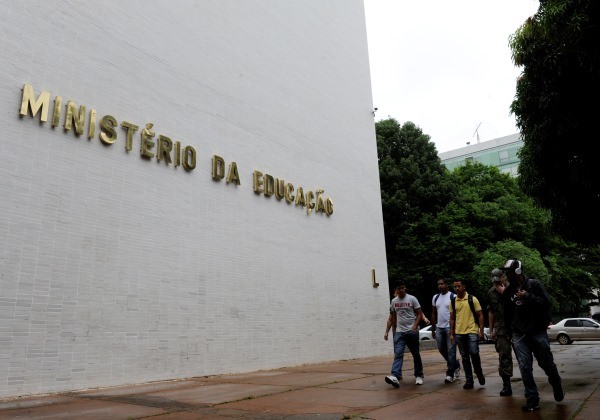
[(473, 371), (479, 385), (485, 385), (479, 356), (479, 342), (483, 341), (484, 337), (483, 312), (479, 300), (467, 293), (462, 280), (454, 281), (454, 291), (456, 297), (450, 300), (450, 343), (458, 345), (463, 360), (463, 389), (473, 389)]

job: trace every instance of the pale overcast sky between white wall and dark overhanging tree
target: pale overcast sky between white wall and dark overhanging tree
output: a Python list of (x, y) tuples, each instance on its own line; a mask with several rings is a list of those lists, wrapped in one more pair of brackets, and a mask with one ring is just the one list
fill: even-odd
[(510, 104), (521, 69), (508, 39), (538, 0), (364, 3), (375, 121), (412, 121), (438, 152), (518, 132)]

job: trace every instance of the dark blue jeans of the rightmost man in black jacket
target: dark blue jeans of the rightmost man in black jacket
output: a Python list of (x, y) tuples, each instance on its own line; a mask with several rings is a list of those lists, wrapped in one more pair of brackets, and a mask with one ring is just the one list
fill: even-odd
[(546, 331), (539, 332), (534, 335), (519, 335), (513, 334), (512, 337), (517, 362), (519, 362), (519, 370), (523, 378), (523, 386), (525, 387), (525, 398), (539, 399), (537, 385), (533, 379), (533, 356), (535, 356), (538, 365), (544, 370), (548, 376), (550, 385), (560, 384), (560, 375), (554, 364), (554, 356), (550, 349), (548, 334)]

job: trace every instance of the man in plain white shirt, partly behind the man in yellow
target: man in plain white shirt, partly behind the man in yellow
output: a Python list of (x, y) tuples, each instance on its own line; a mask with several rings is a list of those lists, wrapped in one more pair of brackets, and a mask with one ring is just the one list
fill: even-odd
[(456, 359), (456, 343), (450, 342), (450, 299), (455, 294), (448, 290), (448, 282), (444, 278), (437, 281), (440, 293), (431, 300), (431, 334), (437, 342), (438, 351), (446, 360), (447, 384), (460, 377), (460, 362)]

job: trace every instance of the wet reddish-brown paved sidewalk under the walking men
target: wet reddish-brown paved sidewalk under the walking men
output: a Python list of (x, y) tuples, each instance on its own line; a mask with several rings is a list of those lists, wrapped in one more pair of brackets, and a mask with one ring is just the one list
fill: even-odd
[[(523, 384), (515, 361), (513, 396), (500, 397), (494, 346), (480, 346), (486, 384), (463, 390), (464, 375), (444, 383), (445, 363), (433, 343), (422, 346), (425, 383), (415, 385), (412, 357), (404, 380), (385, 383), (385, 357), (344, 360), (238, 375), (94, 389), (0, 400), (0, 419), (598, 419), (600, 343), (552, 344), (565, 400), (556, 403), (535, 365), (541, 410), (523, 413)], [(429, 349), (429, 350), (427, 350)]]

